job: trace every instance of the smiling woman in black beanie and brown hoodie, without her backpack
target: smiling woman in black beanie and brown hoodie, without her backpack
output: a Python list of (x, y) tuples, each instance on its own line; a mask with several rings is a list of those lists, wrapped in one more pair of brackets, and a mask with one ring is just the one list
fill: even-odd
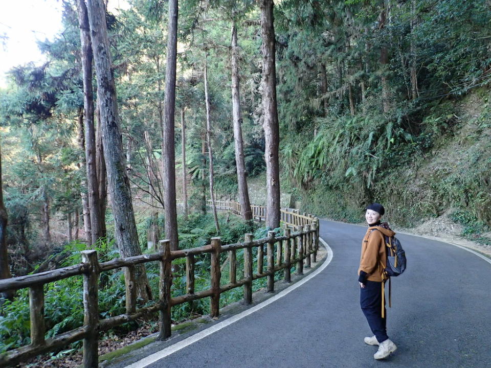
[(378, 345), (375, 359), (384, 359), (397, 347), (387, 336), (387, 317), (385, 311), (384, 274), (387, 260), (385, 236), (394, 236), (387, 222), (381, 222), (385, 210), (382, 204), (372, 203), (367, 206), (365, 219), (368, 223), (367, 233), (362, 241), (362, 255), (358, 269), (360, 283), (360, 306), (367, 318), (368, 325), (374, 334), (365, 337), (365, 343)]

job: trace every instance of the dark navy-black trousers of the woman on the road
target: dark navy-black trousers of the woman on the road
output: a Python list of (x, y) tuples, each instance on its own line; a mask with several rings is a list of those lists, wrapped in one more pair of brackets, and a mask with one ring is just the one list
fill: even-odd
[(380, 343), (387, 340), (389, 338), (386, 329), (387, 313), (384, 303), (384, 315), (386, 317), (382, 318), (381, 282), (365, 281), (365, 287), (360, 288), (360, 306), (377, 341)]

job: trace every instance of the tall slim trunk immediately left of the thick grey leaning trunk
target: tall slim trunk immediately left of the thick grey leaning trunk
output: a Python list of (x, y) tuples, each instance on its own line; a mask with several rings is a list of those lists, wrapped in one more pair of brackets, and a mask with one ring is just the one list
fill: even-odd
[(84, 0), (77, 1), (78, 20), (80, 25), (81, 62), (83, 80), (83, 124), (85, 131), (85, 167), (87, 174), (87, 197), (91, 219), (91, 244), (96, 244), (102, 237), (100, 213), (99, 183), (96, 164), (96, 133), (94, 128), (94, 94), (92, 87), (92, 42), (88, 25), (87, 8)]

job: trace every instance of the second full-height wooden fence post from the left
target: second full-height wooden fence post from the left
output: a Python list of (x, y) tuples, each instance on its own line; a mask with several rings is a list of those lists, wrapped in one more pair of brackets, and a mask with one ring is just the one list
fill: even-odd
[(171, 334), (171, 304), (170, 304), (170, 287), (172, 285), (172, 259), (170, 256), (170, 240), (161, 240), (159, 242), (162, 260), (160, 261), (160, 303), (159, 311), (159, 337), (158, 340), (165, 340)]

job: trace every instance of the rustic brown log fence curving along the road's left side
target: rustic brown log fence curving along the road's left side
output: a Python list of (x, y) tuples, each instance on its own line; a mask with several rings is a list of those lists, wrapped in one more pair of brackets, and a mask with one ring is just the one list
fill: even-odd
[[(216, 201), (221, 209), (240, 214), (240, 204), (232, 201)], [(254, 217), (265, 220), (265, 207), (252, 206)], [(0, 280), (0, 292), (29, 288), (31, 343), (15, 350), (7, 351), (0, 356), (0, 367), (12, 366), (36, 355), (56, 351), (68, 344), (83, 340), (83, 366), (98, 366), (98, 337), (101, 331), (120, 326), (130, 321), (159, 313), (159, 338), (171, 335), (171, 308), (201, 298), (210, 298), (210, 315), (218, 317), (220, 294), (233, 288), (243, 288), (243, 299), (246, 304), (252, 303), (252, 282), (260, 278), (267, 279), (267, 291), (274, 291), (275, 273), (283, 270), (285, 282), (291, 282), (291, 270), (295, 267), (297, 274), (303, 274), (304, 266), (310, 267), (316, 262), (319, 249), (319, 220), (311, 215), (300, 215), (298, 212), (281, 210), (281, 220), (285, 225), (284, 236), (275, 236), (268, 232), (267, 238), (253, 240), (252, 234), (245, 234), (244, 242), (222, 245), (220, 238), (212, 238), (211, 243), (202, 247), (170, 250), (169, 240), (159, 242), (159, 251), (135, 257), (119, 258), (99, 262), (96, 250), (83, 250), (82, 262), (78, 265), (41, 272), (23, 277)], [(256, 248), (256, 269), (253, 270), (253, 248)], [(239, 274), (237, 251), (243, 249), (242, 272)], [(220, 255), (226, 253), (229, 264), (229, 280), (222, 284)], [(211, 286), (207, 290), (195, 292), (194, 269), (195, 256), (210, 254)], [(186, 259), (187, 293), (171, 296), (172, 261)], [(264, 258), (266, 264), (264, 265)], [(126, 289), (126, 313), (99, 318), (98, 289), (101, 272), (123, 268), (125, 278), (133, 280), (135, 265), (148, 262), (159, 262), (160, 281), (159, 299), (152, 305), (137, 309), (136, 293), (132, 288)], [(44, 285), (62, 279), (83, 277), (84, 322), (74, 330), (45, 339), (44, 324)]]

